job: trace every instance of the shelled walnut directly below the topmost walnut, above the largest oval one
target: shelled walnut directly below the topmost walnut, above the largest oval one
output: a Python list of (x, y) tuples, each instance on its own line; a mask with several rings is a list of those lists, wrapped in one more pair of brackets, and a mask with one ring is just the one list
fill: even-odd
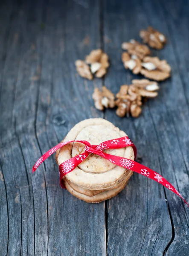
[(143, 59), (145, 56), (150, 55), (150, 49), (144, 44), (131, 39), (129, 42), (122, 43), (122, 49), (128, 51), (132, 59)]

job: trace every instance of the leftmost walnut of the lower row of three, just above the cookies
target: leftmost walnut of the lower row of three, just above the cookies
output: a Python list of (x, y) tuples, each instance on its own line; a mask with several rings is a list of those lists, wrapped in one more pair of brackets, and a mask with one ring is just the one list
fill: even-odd
[(113, 93), (108, 90), (105, 86), (102, 87), (102, 92), (99, 88), (95, 88), (93, 92), (93, 99), (95, 108), (98, 110), (103, 110), (105, 108), (115, 107), (115, 97)]

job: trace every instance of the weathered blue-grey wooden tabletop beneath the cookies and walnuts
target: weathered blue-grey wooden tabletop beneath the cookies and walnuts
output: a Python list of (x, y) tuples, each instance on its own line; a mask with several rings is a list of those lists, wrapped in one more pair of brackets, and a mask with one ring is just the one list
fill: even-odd
[[(137, 160), (189, 201), (189, 2), (4, 0), (0, 4), (0, 255), (188, 256), (189, 208), (168, 189), (134, 174), (115, 198), (87, 204), (59, 186), (54, 156), (41, 154), (77, 122), (104, 117), (126, 131)], [(137, 78), (121, 43), (154, 26), (168, 44), (153, 55), (172, 67), (159, 96), (137, 118), (94, 108), (94, 87), (113, 93)], [(101, 47), (111, 66), (87, 81), (74, 61)]]

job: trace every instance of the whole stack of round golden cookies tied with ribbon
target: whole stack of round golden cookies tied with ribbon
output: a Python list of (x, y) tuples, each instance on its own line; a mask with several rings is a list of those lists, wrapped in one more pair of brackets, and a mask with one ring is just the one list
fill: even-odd
[[(87, 140), (91, 145), (99, 145), (106, 140), (127, 136), (105, 119), (87, 119), (75, 125), (65, 141)], [(82, 143), (70, 143), (56, 152), (58, 165), (84, 152)], [(132, 147), (105, 149), (104, 152), (134, 160)], [(117, 195), (128, 183), (132, 171), (116, 166), (105, 158), (90, 154), (72, 172), (64, 176), (64, 185), (77, 198), (88, 203), (99, 203)]]

